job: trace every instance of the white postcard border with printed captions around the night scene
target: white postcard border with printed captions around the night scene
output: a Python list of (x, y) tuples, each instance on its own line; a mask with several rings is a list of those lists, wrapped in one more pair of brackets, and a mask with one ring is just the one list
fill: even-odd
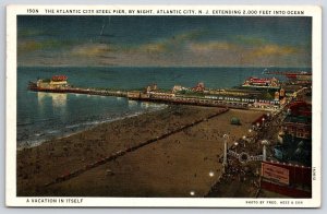
[[(304, 11), (304, 16), (312, 16), (312, 58), (313, 58), (313, 168), (315, 179), (312, 183), (312, 199), (232, 199), (232, 198), (73, 198), (83, 199), (82, 203), (26, 203), (27, 199), (16, 197), (16, 15), (28, 14), (27, 9), (38, 9), (38, 15), (109, 15), (95, 13), (45, 13), (45, 9), (97, 10), (97, 9), (173, 9), (173, 10), (281, 10)], [(36, 15), (36, 14), (35, 14)], [(126, 15), (126, 14), (117, 14)], [(133, 14), (128, 14), (133, 15)], [(140, 14), (137, 14), (140, 15)], [(146, 15), (146, 14), (145, 14)], [(167, 15), (167, 14), (152, 14)], [(174, 14), (170, 14), (174, 15)], [(179, 14), (190, 15), (190, 14)], [(213, 15), (213, 14), (202, 14)], [(234, 16), (235, 14), (227, 14)], [(246, 14), (253, 15), (253, 14)], [(244, 14), (238, 15), (244, 16)], [(259, 16), (259, 15), (258, 15)], [(296, 14), (279, 14), (266, 16), (303, 16)], [(138, 207), (319, 207), (322, 198), (322, 9), (314, 5), (9, 5), (7, 8), (7, 94), (5, 94), (5, 203), (8, 206), (138, 206)], [(52, 198), (55, 199), (55, 198)], [(56, 198), (66, 199), (66, 198)], [(277, 205), (267, 203), (276, 201)], [(247, 204), (246, 201), (263, 201)], [(288, 201), (288, 204), (280, 202)], [(296, 204), (302, 202), (302, 204)]]

